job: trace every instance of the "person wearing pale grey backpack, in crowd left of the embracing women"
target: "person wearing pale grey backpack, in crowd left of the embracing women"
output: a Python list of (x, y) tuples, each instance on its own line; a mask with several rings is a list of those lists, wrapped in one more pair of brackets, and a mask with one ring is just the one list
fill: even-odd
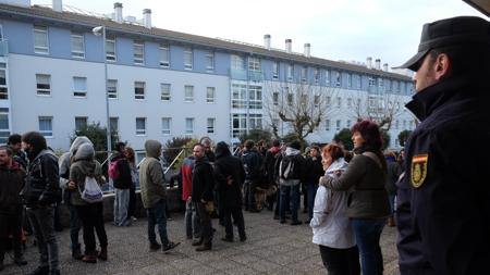
[(297, 209), (299, 207), (299, 183), (305, 171), (305, 159), (301, 153), (299, 141), (291, 142), (284, 152), (284, 155), (278, 163), (279, 185), (281, 189), (279, 202), (280, 223), (285, 223), (286, 197), (291, 196), (291, 225), (299, 225), (302, 222), (297, 218)]

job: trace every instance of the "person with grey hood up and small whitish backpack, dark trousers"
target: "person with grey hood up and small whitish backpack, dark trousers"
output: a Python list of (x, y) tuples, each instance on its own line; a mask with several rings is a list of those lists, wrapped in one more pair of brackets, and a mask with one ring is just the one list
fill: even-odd
[[(95, 160), (94, 146), (87, 142), (81, 145), (72, 158), (68, 188), (71, 192), (70, 203), (75, 207), (84, 228), (85, 255), (82, 258), (82, 261), (96, 263), (97, 258), (107, 261), (108, 240), (103, 226), (102, 191), (99, 187), (99, 190), (94, 193), (99, 197), (98, 199), (90, 200), (85, 198), (84, 191), (88, 188), (89, 182), (102, 185), (106, 180), (102, 176), (102, 166)], [(94, 230), (97, 232), (100, 242), (100, 252), (98, 254)]]

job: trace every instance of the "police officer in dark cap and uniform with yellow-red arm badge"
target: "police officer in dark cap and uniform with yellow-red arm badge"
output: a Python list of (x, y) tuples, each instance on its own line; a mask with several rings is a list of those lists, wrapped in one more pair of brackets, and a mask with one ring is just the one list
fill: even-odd
[(490, 23), (424, 25), (407, 103), (420, 121), (399, 183), (400, 271), (483, 274), (490, 268)]

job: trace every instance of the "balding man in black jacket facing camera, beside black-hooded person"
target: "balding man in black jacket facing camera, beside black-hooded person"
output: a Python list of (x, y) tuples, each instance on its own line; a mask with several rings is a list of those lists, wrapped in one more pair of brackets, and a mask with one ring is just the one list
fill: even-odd
[(194, 146), (193, 155), (196, 158), (196, 161), (193, 170), (192, 200), (196, 204), (200, 220), (200, 239), (193, 245), (199, 246), (196, 248), (196, 251), (206, 251), (211, 250), (212, 247), (212, 227), (209, 212), (212, 212), (213, 208), (212, 190), (215, 179), (211, 164), (205, 158), (203, 145)]

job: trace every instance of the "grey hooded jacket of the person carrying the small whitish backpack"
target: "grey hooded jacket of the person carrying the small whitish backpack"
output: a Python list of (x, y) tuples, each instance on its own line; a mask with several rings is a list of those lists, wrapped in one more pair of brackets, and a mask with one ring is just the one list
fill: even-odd
[(94, 177), (99, 185), (103, 184), (102, 166), (94, 159), (94, 146), (90, 143), (83, 143), (78, 147), (73, 159), (73, 164), (70, 167), (70, 180), (76, 184), (76, 188), (71, 191), (70, 202), (73, 205), (87, 205), (79, 195), (85, 188), (85, 177)]

